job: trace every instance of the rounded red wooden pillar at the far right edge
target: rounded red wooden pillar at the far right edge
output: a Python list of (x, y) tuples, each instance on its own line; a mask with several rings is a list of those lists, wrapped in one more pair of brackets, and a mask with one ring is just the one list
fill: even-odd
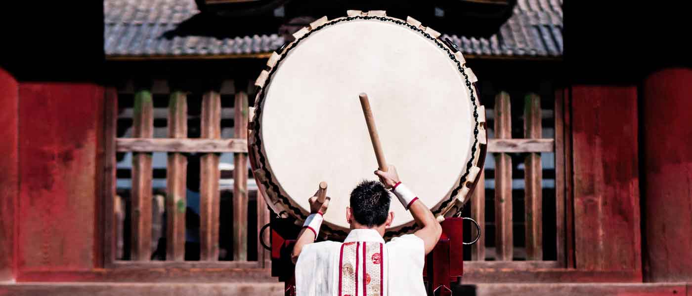
[(644, 81), (644, 276), (692, 281), (692, 69)]

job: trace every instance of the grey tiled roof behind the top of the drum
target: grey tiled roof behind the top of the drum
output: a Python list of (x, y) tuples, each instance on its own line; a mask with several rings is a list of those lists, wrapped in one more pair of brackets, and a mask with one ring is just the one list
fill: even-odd
[[(563, 0), (518, 0), (512, 16), (489, 38), (451, 35), (466, 55), (561, 57)], [(262, 54), (284, 43), (278, 34), (235, 38), (170, 36), (198, 14), (194, 0), (105, 0), (104, 50), (113, 57), (215, 57)]]

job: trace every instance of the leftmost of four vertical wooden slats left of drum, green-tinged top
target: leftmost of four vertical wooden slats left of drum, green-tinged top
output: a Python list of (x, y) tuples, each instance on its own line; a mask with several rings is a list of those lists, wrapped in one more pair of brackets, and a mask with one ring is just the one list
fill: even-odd
[[(152, 93), (139, 90), (134, 97), (133, 137), (154, 137)], [(131, 259), (149, 260), (152, 248), (152, 154), (132, 155)]]

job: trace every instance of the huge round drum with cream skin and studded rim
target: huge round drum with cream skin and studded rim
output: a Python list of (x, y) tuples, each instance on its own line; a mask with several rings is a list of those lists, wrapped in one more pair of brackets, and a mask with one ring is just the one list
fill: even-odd
[[(302, 221), (320, 181), (323, 230), (343, 237), (349, 194), (376, 179), (358, 93), (370, 97), (387, 161), (439, 220), (458, 212), (485, 155), (485, 112), (464, 57), (415, 19), (349, 11), (295, 33), (257, 79), (249, 125), (255, 179), (275, 213)], [(401, 204), (386, 237), (415, 229)]]

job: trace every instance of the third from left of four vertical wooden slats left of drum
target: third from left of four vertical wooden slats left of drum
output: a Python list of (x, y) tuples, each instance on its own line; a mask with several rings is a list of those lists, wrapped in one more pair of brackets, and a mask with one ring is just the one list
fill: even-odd
[[(221, 138), (221, 96), (210, 90), (202, 97), (201, 137)], [(207, 153), (199, 162), (200, 259), (219, 259), (219, 155)]]

